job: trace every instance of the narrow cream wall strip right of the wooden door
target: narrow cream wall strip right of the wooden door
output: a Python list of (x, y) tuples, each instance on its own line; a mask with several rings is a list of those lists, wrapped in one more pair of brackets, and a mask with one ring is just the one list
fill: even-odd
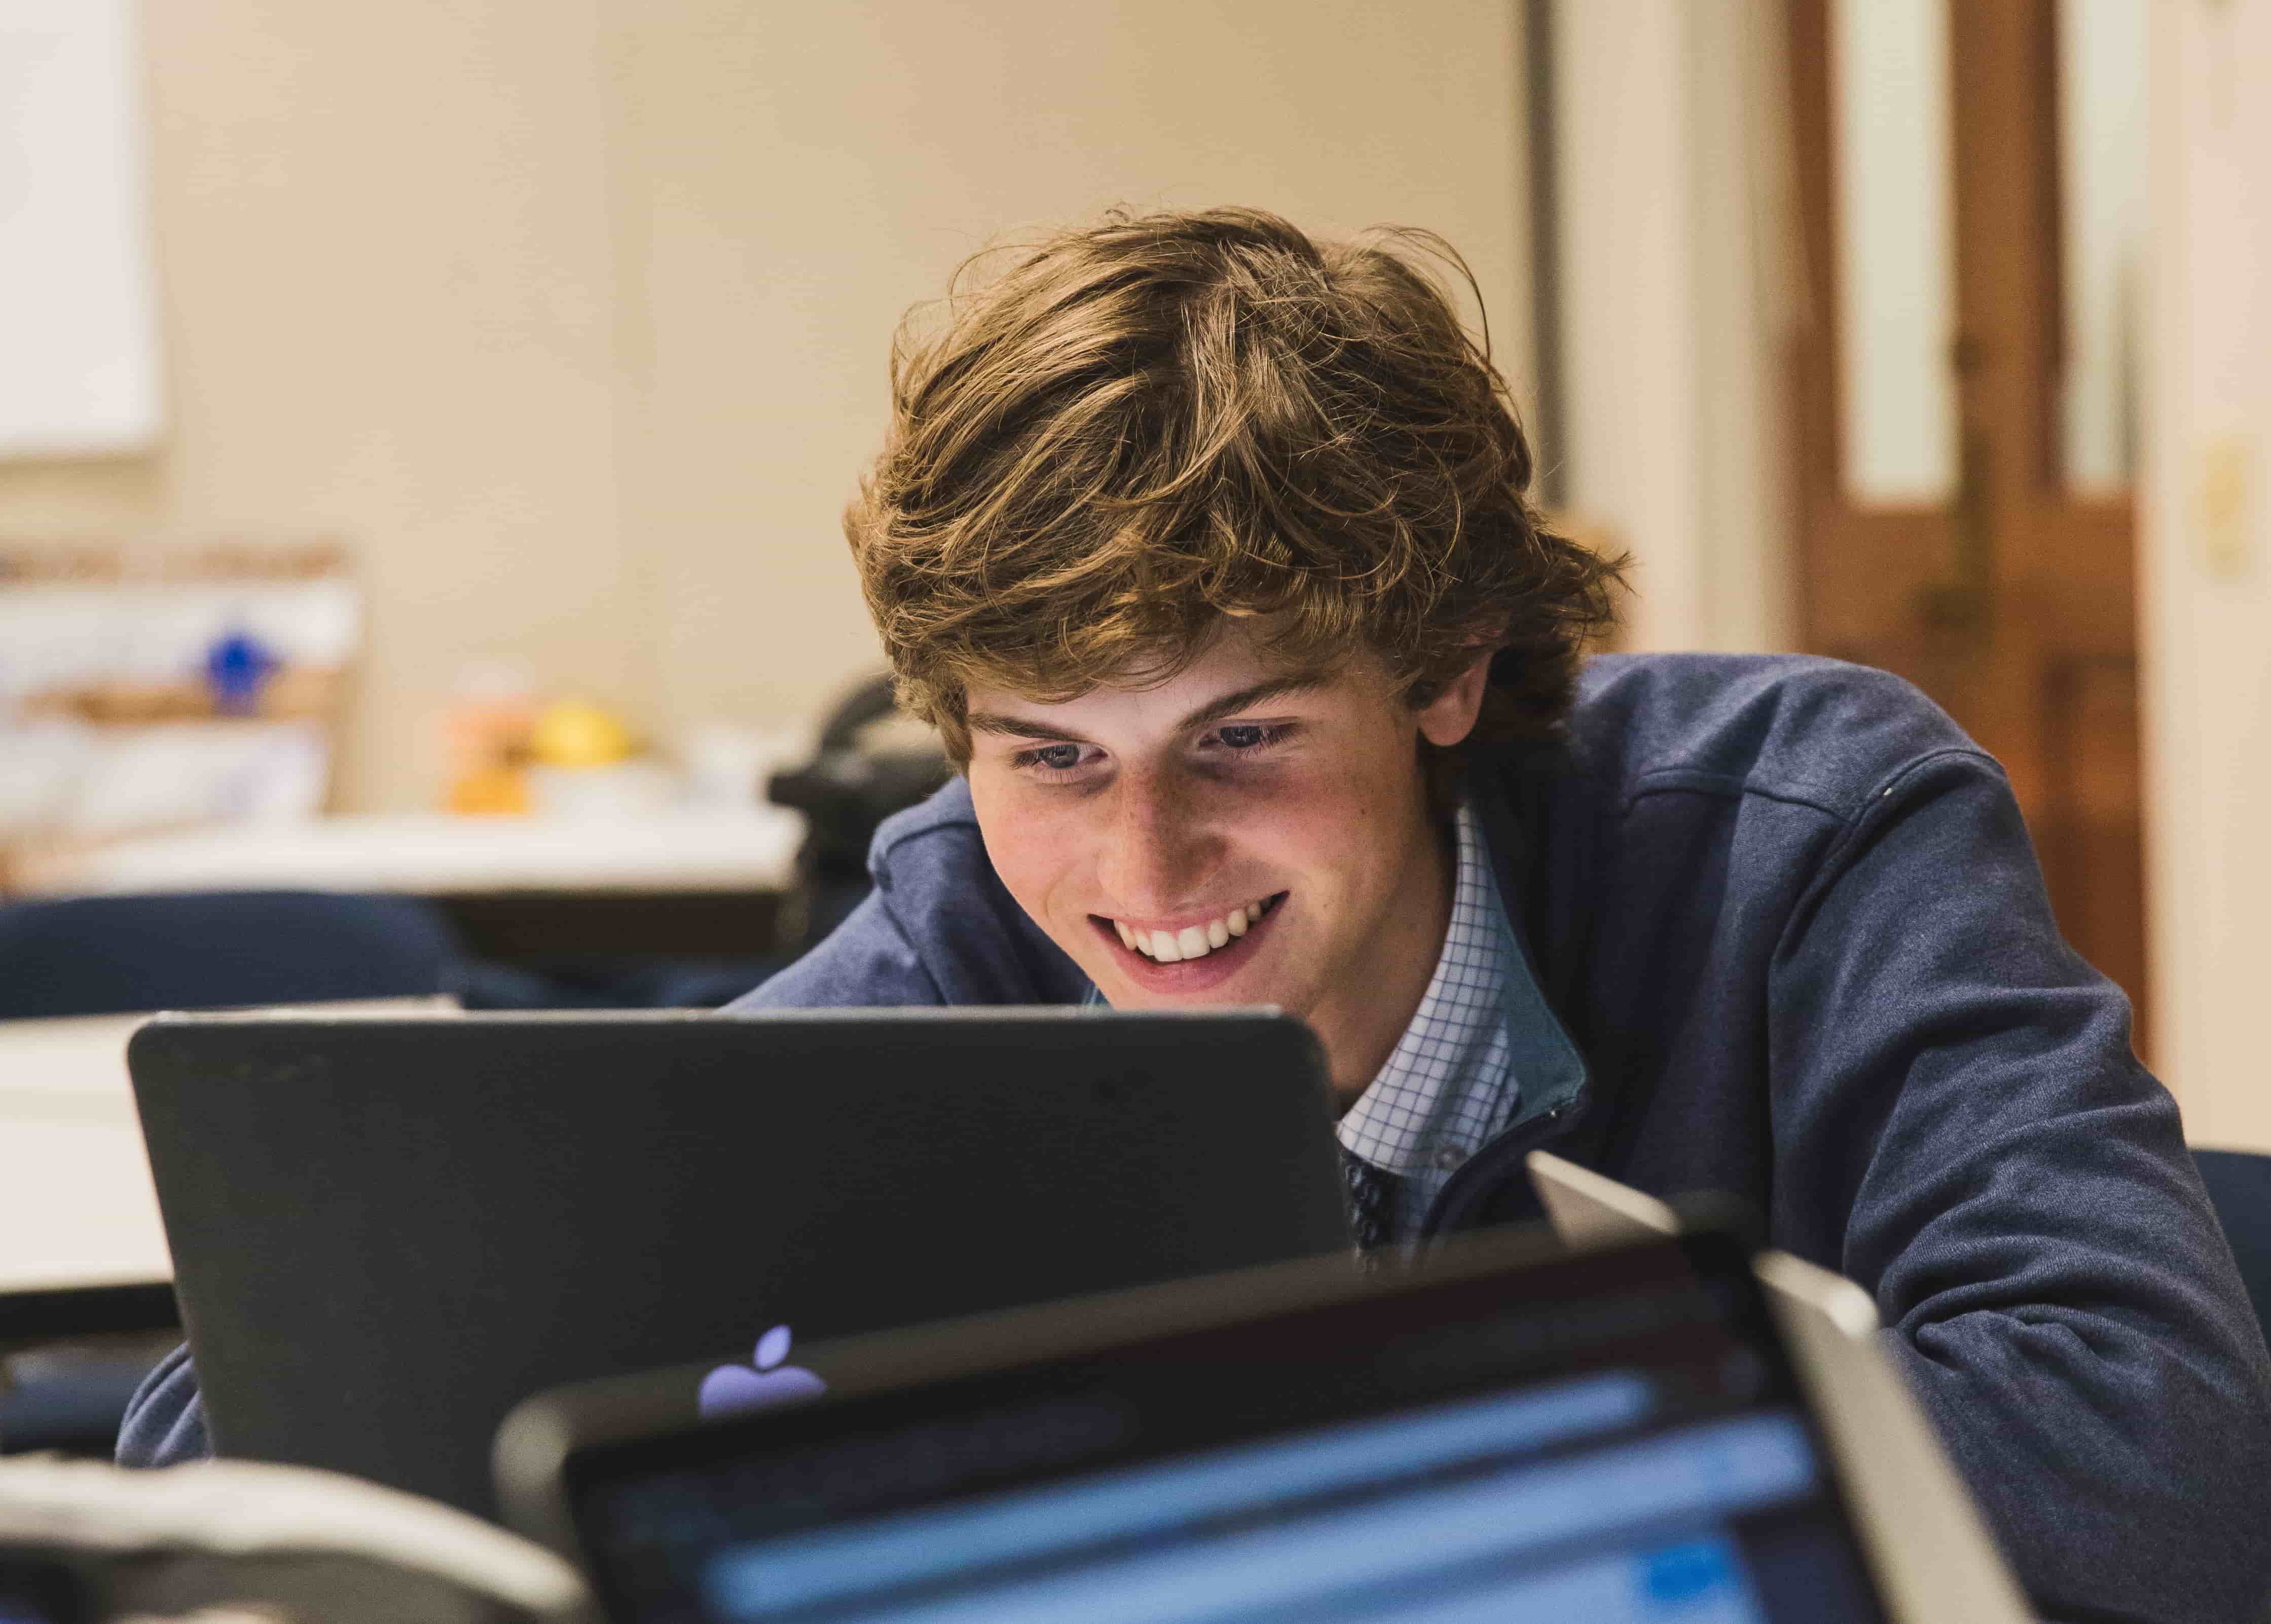
[(2142, 518), (2160, 1070), (2271, 1149), (2271, 0), (2153, 7)]

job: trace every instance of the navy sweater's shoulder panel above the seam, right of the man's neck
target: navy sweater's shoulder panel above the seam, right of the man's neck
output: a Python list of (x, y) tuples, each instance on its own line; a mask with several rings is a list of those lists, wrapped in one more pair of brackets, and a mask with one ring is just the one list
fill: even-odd
[(1765, 795), (1849, 820), (1930, 761), (1992, 759), (1892, 672), (1812, 654), (1603, 654), (1569, 711), (1569, 754), (1621, 802)]

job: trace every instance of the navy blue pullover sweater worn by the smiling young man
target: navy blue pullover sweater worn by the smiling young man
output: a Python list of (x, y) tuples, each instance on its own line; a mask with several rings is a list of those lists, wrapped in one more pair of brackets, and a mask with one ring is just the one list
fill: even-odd
[[(1428, 1231), (1535, 1217), (1522, 1154), (1719, 1190), (1860, 1281), (2035, 1604), (2255, 1619), (2271, 1358), (2121, 993), (2060, 938), (2003, 770), (1908, 684), (1785, 656), (1603, 656), (1565, 745), (1476, 756), (1537, 1029), (1517, 1124)], [(740, 1006), (1054, 1004), (963, 781)], [(200, 1454), (184, 1358), (120, 1458)]]

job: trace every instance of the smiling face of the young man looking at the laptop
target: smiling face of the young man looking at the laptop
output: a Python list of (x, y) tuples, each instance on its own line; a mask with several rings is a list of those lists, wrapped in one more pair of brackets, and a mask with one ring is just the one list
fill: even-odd
[(1451, 865), (1419, 738), (1467, 736), (1483, 672), (1415, 709), (1369, 659), (1285, 675), (1229, 622), (1149, 688), (1040, 704), (972, 684), (986, 852), (1115, 1008), (1279, 1004), (1354, 1097), (1442, 952)]

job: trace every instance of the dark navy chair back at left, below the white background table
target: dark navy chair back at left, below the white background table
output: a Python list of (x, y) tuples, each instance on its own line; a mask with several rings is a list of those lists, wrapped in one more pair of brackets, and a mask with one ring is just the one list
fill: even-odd
[(454, 990), (463, 954), (416, 897), (216, 890), (0, 906), (0, 1020), (320, 1004)]

